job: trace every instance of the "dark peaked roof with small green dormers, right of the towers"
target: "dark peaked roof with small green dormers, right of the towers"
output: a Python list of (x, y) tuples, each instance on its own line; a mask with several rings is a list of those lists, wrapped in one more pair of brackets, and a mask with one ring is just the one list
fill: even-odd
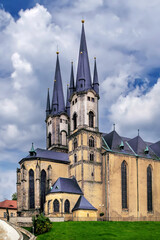
[(103, 134), (103, 142), (108, 151), (159, 159), (160, 142), (155, 144), (145, 142), (138, 134), (133, 139), (121, 137), (115, 130)]

